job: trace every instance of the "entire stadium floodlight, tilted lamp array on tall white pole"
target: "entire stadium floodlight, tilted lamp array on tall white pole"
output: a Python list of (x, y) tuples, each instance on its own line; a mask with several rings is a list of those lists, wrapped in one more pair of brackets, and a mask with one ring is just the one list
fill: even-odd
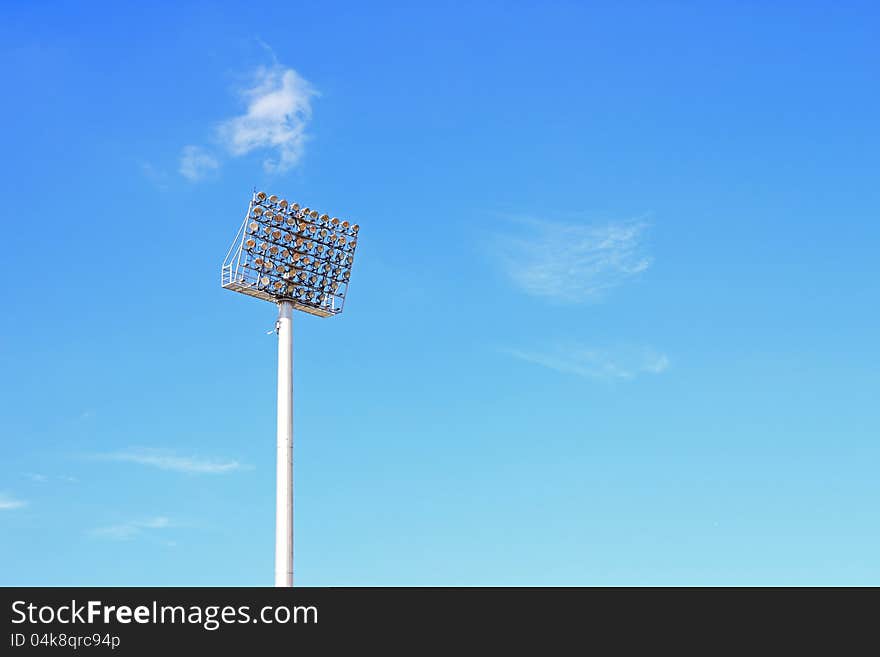
[(342, 312), (358, 230), (255, 191), (220, 269), (222, 287), (278, 305), (275, 586), (293, 586), (293, 311)]

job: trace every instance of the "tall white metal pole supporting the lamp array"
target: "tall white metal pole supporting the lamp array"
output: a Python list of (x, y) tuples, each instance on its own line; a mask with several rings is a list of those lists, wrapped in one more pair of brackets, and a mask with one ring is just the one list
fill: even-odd
[(275, 586), (293, 586), (293, 303), (278, 302)]

